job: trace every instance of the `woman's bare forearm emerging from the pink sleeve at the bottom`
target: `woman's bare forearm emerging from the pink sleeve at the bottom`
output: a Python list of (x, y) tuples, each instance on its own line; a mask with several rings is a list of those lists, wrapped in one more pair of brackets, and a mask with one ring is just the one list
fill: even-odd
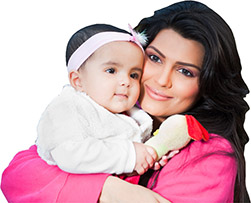
[(151, 202), (170, 203), (168, 200), (140, 185), (134, 185), (114, 176), (109, 176), (99, 197), (100, 203)]

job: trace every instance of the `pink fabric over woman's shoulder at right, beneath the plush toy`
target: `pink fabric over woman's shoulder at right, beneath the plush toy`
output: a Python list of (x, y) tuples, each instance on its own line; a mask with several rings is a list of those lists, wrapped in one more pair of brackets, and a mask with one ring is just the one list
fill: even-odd
[(232, 202), (236, 167), (230, 142), (210, 134), (169, 160), (154, 190), (172, 202)]

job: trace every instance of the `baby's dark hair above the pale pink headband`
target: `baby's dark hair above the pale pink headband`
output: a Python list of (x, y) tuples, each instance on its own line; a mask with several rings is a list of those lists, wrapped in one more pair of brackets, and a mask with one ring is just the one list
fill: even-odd
[(80, 47), (86, 40), (88, 40), (93, 35), (100, 33), (100, 32), (121, 32), (121, 33), (127, 33), (126, 30), (114, 27), (112, 25), (108, 24), (93, 24), (86, 26), (80, 30), (78, 30), (76, 33), (74, 33), (66, 47), (66, 66), (68, 65), (68, 61), (71, 57), (71, 55), (77, 50), (78, 47)]

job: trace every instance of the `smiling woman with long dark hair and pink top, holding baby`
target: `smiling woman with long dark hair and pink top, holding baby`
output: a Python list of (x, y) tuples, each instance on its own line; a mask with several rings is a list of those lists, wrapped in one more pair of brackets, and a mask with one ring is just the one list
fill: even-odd
[(203, 4), (184, 1), (143, 19), (137, 30), (149, 37), (140, 104), (152, 115), (154, 129), (170, 115), (191, 114), (211, 133), (210, 140), (190, 143), (156, 173), (127, 179), (149, 189), (107, 174), (61, 172), (43, 163), (32, 147), (3, 174), (9, 201), (29, 196), (50, 202), (164, 202), (163, 196), (172, 202), (250, 202), (243, 155), (249, 109), (243, 98), (249, 90), (230, 28)]

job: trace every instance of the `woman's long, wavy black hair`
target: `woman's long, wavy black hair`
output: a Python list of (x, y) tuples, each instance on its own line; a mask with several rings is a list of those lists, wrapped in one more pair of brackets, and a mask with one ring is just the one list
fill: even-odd
[(194, 115), (211, 133), (230, 141), (237, 160), (234, 201), (250, 202), (245, 184), (244, 146), (249, 138), (243, 124), (249, 93), (241, 76), (241, 63), (227, 23), (206, 5), (184, 1), (160, 9), (135, 28), (151, 43), (162, 29), (173, 29), (186, 39), (200, 42), (205, 56), (200, 74), (200, 99), (186, 114)]

